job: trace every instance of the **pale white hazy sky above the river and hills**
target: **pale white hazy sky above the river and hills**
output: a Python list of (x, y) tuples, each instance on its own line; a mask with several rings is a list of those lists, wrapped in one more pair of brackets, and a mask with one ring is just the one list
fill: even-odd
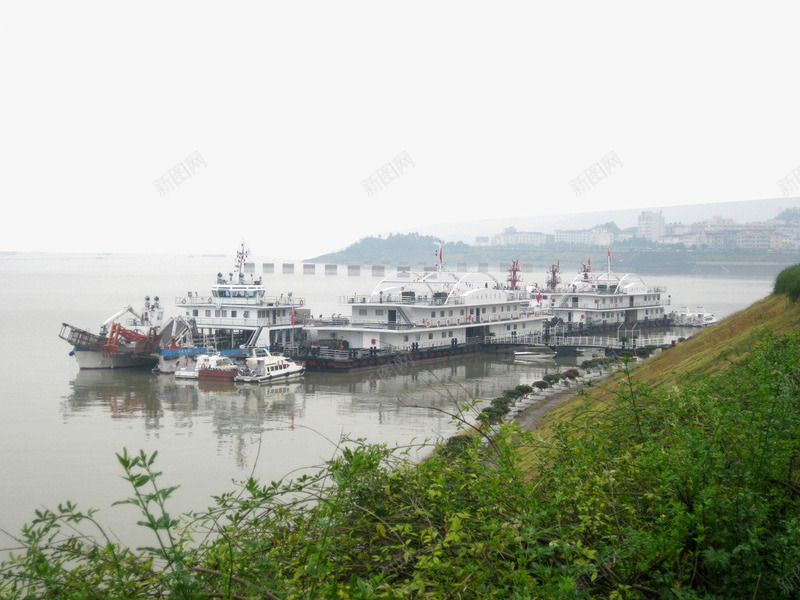
[(781, 197), (798, 23), (791, 2), (5, 2), (0, 250), (302, 259)]

